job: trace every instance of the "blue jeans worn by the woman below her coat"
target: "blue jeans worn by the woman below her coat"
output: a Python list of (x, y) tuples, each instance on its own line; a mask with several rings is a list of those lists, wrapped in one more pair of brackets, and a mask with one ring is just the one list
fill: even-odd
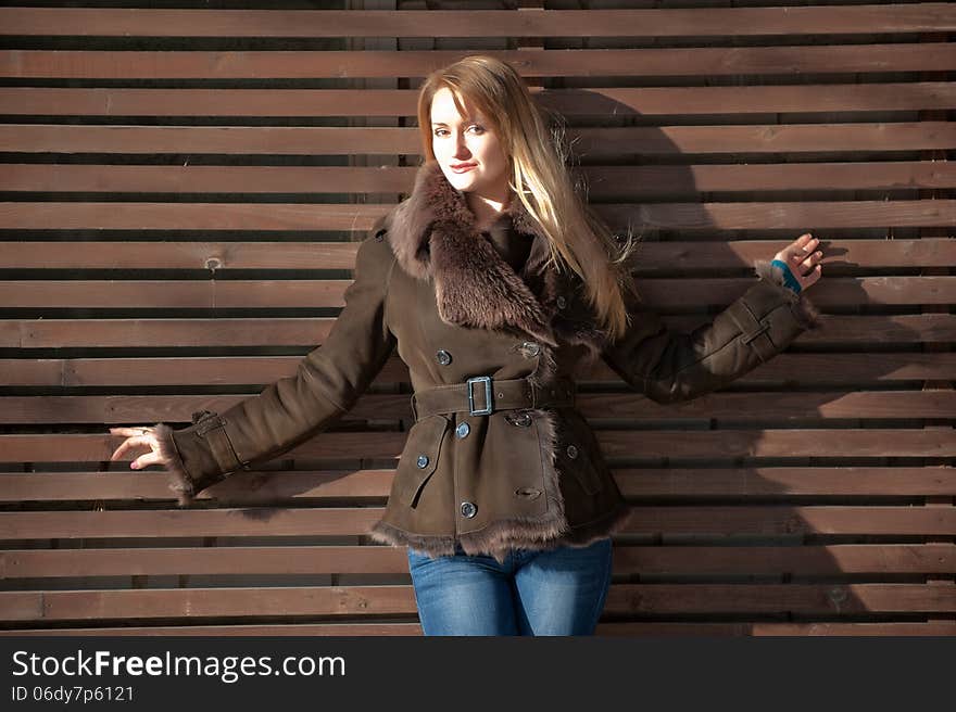
[(408, 549), (425, 635), (593, 635), (611, 587), (611, 538), (551, 551), (430, 558)]

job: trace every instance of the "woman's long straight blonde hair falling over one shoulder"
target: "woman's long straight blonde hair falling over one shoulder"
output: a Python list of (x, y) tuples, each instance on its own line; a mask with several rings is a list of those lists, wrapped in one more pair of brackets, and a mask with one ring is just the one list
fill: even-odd
[(637, 246), (630, 232), (624, 244), (588, 206), (566, 167), (568, 151), (555, 122), (549, 128), (528, 86), (507, 62), (493, 56), (466, 56), (429, 74), (418, 93), (418, 128), (424, 160), (431, 148), (431, 102), (446, 87), (458, 111), (477, 106), (492, 125), (510, 158), (511, 200), (520, 200), (548, 236), (548, 265), (573, 269), (586, 285), (586, 297), (598, 325), (609, 340), (624, 334), (630, 319), (625, 290), (637, 292), (628, 262)]

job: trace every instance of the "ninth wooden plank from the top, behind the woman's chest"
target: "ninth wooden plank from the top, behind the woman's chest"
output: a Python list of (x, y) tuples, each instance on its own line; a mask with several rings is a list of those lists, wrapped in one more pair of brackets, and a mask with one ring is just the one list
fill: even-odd
[[(822, 289), (821, 284), (814, 287)], [(669, 329), (691, 330), (701, 316), (665, 315)], [(0, 319), (0, 347), (4, 348), (110, 348), (155, 346), (275, 346), (284, 344), (311, 351), (320, 344), (334, 318), (271, 317), (218, 319)], [(827, 316), (822, 328), (802, 333), (797, 342), (820, 344), (911, 344), (956, 340), (956, 315), (913, 314), (892, 316)], [(777, 356), (770, 364), (778, 361)], [(201, 363), (197, 360), (197, 363)], [(767, 368), (767, 364), (759, 368)], [(607, 371), (604, 371), (605, 373)], [(861, 373), (868, 372), (867, 370)], [(869, 371), (871, 372), (871, 371)], [(611, 380), (619, 381), (614, 374)]]

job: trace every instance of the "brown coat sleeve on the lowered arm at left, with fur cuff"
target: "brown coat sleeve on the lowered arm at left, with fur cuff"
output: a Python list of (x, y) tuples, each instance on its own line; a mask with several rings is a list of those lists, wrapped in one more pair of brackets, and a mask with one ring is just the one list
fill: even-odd
[(395, 345), (386, 319), (394, 257), (383, 236), (383, 230), (373, 230), (360, 244), (344, 308), (322, 346), (302, 359), (294, 376), (222, 415), (193, 414), (188, 428), (156, 424), (169, 486), (178, 493), (180, 506), (227, 474), (263, 463), (328, 428), (382, 369)]

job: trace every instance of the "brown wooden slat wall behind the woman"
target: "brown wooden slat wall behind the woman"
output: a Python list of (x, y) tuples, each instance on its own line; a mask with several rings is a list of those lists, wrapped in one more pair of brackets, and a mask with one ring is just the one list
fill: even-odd
[(956, 634), (956, 5), (117, 4), (0, 9), (3, 632), (420, 634), (404, 550), (365, 535), (398, 357), (190, 510), (106, 432), (294, 373), (411, 188), (422, 77), (492, 52), (675, 328), (801, 232), (828, 254), (823, 329), (732, 386), (581, 384), (637, 507), (599, 633)]

